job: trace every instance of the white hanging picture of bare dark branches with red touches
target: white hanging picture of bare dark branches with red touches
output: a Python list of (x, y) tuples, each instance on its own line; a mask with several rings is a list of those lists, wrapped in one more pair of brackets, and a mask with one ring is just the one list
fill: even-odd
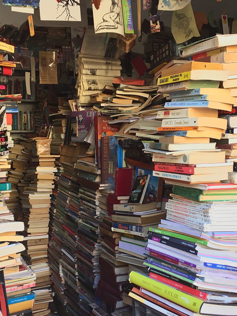
[(40, 0), (41, 21), (82, 21), (80, 0)]

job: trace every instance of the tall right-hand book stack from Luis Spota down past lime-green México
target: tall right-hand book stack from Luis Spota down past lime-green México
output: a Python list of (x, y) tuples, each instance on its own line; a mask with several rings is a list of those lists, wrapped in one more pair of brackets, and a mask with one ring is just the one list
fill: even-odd
[[(229, 90), (215, 88), (228, 77), (226, 70), (215, 70), (217, 64), (185, 67), (186, 81), (181, 66), (169, 75), (164, 70), (158, 79), (158, 90), (172, 100), (157, 115), (162, 119), (158, 131), (165, 136), (144, 152), (152, 153), (153, 175), (173, 185), (173, 193), (166, 220), (148, 231), (144, 265), (149, 276), (132, 271), (130, 282), (141, 288), (134, 287), (129, 296), (138, 309), (161, 315), (234, 315), (237, 191), (236, 185), (221, 182), (233, 162), (226, 162), (225, 151), (210, 137), (221, 139), (228, 122), (218, 118), (218, 110), (231, 111), (236, 100)], [(177, 83), (170, 84), (173, 79)]]

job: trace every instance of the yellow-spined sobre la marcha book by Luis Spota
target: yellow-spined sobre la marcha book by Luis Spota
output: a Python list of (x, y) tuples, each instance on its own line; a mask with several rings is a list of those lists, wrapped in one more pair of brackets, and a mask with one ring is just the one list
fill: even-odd
[(214, 80), (226, 81), (228, 70), (191, 70), (157, 79), (157, 85), (170, 84), (186, 80)]

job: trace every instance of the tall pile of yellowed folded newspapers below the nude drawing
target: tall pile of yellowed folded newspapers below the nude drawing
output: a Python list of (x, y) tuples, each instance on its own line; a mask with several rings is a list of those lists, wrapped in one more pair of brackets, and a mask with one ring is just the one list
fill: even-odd
[[(96, 50), (91, 50), (90, 41), (96, 41)], [(119, 60), (119, 48), (113, 47), (111, 52), (110, 42), (116, 40), (113, 35), (106, 37), (87, 29), (84, 34), (80, 54), (77, 58), (77, 110), (80, 106), (90, 107), (90, 96), (102, 94), (103, 88), (111, 86), (114, 76), (120, 76), (122, 69)], [(104, 43), (102, 45), (102, 43)]]

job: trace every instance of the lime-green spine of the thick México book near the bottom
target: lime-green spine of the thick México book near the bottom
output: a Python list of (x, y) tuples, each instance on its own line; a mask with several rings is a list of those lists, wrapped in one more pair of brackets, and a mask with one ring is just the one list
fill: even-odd
[(143, 287), (157, 295), (161, 295), (167, 300), (171, 300), (174, 303), (186, 307), (193, 312), (200, 312), (200, 307), (203, 303), (202, 300), (180, 292), (179, 290), (173, 289), (168, 285), (150, 279), (143, 274), (132, 271), (129, 275), (129, 282)]

